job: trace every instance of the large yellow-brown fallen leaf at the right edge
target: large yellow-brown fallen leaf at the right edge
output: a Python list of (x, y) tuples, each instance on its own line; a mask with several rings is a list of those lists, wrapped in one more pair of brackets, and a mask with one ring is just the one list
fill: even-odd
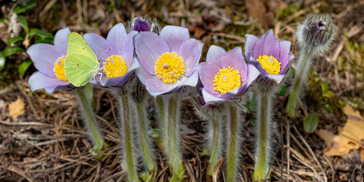
[(317, 132), (317, 135), (327, 145), (324, 150), (324, 154), (327, 156), (349, 155), (350, 151), (364, 147), (363, 116), (349, 105), (343, 108), (343, 112), (348, 116), (348, 120), (343, 128), (338, 128), (339, 133), (337, 135), (325, 129), (320, 129)]

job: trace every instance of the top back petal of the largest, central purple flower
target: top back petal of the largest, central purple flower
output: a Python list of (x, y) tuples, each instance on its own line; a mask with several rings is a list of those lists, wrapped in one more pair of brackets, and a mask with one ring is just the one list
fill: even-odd
[(159, 36), (167, 42), (171, 52), (178, 52), (179, 46), (181, 46), (184, 41), (190, 39), (187, 28), (173, 25), (167, 25), (162, 28)]

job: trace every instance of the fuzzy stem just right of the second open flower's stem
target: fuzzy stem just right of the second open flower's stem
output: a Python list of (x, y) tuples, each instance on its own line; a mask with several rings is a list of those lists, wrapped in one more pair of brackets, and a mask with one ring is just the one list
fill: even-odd
[(145, 104), (143, 102), (137, 103), (137, 114), (138, 114), (138, 127), (139, 137), (142, 145), (143, 156), (149, 170), (154, 170), (155, 161), (151, 151), (148, 137), (148, 118), (145, 113)]

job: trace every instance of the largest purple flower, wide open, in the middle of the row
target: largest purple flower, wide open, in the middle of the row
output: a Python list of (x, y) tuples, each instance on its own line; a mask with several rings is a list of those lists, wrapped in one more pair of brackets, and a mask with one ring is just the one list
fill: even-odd
[(135, 39), (135, 52), (141, 63), (137, 75), (151, 95), (196, 86), (195, 67), (201, 58), (202, 43), (190, 39), (187, 28), (167, 25), (159, 36), (141, 32)]

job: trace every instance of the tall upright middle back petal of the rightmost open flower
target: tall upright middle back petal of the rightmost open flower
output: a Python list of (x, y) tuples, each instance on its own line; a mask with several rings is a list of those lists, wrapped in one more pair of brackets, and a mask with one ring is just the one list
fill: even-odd
[(278, 39), (274, 36), (273, 31), (269, 30), (255, 44), (253, 57), (257, 59), (259, 56), (267, 55), (277, 59), (279, 58), (279, 51)]

